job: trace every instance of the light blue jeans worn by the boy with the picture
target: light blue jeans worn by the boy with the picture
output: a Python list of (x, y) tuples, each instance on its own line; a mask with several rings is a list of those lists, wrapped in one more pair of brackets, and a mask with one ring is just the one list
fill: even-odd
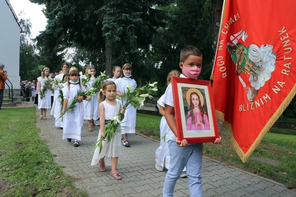
[(189, 144), (179, 147), (175, 141), (168, 141), (170, 149), (170, 169), (167, 172), (163, 196), (173, 196), (174, 188), (180, 174), (186, 166), (190, 196), (202, 196), (201, 162), (203, 144)]

